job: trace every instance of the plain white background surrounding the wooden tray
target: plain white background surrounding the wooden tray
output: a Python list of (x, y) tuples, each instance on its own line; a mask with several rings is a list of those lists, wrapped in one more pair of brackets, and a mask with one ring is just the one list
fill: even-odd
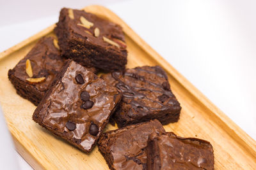
[(256, 1), (0, 0), (0, 51), (57, 22), (62, 7), (92, 3), (113, 10), (256, 139)]

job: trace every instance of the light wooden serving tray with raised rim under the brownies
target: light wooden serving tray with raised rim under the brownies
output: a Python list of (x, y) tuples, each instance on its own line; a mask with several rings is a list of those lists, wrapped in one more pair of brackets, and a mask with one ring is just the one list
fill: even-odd
[[(210, 141), (214, 148), (216, 169), (256, 169), (256, 142), (248, 134), (113, 12), (102, 6), (88, 6), (84, 9), (122, 25), (129, 52), (127, 67), (159, 65), (168, 73), (182, 111), (179, 122), (164, 126), (166, 131)], [(31, 50), (38, 38), (52, 35), (54, 26), (0, 53), (0, 103), (15, 146), (35, 169), (108, 169), (97, 147), (90, 154), (83, 153), (33, 122), (31, 117), (36, 107), (17, 95), (8, 81), (8, 69), (13, 68)], [(109, 129), (116, 127), (108, 125)]]

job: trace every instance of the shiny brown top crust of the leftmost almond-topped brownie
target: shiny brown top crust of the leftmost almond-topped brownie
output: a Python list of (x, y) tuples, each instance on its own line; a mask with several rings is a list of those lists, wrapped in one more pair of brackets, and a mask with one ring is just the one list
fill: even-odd
[[(63, 66), (65, 59), (60, 56), (60, 51), (53, 44), (53, 37), (44, 37), (36, 43), (32, 50), (20, 60), (13, 69), (13, 75), (19, 80), (27, 82), (26, 60), (29, 59), (33, 70), (33, 78), (44, 76), (46, 80), (33, 85), (38, 91), (46, 92), (52, 80)], [(28, 82), (27, 82), (28, 83)]]

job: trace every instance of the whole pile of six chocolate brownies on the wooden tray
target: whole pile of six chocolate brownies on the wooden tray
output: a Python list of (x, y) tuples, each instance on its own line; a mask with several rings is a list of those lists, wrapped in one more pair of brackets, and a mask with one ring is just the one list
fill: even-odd
[[(35, 122), (83, 152), (97, 143), (110, 169), (214, 169), (209, 142), (164, 131), (180, 103), (160, 66), (125, 69), (120, 25), (63, 8), (54, 32), (8, 72)], [(103, 133), (109, 120), (120, 129)]]

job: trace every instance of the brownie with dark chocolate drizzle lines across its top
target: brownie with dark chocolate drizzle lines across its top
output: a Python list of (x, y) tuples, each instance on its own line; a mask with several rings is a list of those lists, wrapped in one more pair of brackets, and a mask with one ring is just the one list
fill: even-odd
[(105, 74), (102, 78), (123, 92), (120, 106), (113, 115), (118, 127), (154, 118), (164, 125), (179, 120), (180, 104), (161, 67), (135, 67)]

